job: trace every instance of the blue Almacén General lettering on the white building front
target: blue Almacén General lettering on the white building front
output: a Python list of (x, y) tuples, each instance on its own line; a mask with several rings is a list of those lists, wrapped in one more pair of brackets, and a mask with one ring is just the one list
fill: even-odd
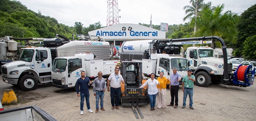
[[(122, 27), (122, 31), (97, 31), (96, 36), (126, 36), (126, 28)], [(132, 27), (128, 27), (130, 36), (157, 36), (157, 31), (132, 31)]]

